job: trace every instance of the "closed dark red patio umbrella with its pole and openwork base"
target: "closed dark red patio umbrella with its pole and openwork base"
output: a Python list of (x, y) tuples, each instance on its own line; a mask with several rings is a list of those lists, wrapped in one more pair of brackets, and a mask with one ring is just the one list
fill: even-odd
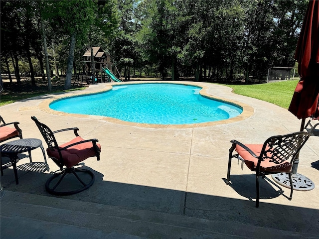
[[(298, 61), (298, 73), (301, 80), (288, 110), (298, 119), (302, 119), (300, 131), (303, 131), (306, 118), (319, 118), (319, 0), (309, 1), (295, 59)], [(292, 168), (294, 189), (300, 191), (313, 189), (314, 183), (297, 173), (298, 163), (299, 156), (296, 157)], [(289, 178), (286, 175), (273, 175), (273, 179), (283, 186), (290, 187)]]

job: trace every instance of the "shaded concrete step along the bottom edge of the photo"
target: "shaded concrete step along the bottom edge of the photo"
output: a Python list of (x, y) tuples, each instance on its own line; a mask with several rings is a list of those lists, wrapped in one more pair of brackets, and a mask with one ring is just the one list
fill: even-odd
[(103, 204), (6, 191), (1, 239), (224, 239), (317, 238), (233, 222), (220, 222)]

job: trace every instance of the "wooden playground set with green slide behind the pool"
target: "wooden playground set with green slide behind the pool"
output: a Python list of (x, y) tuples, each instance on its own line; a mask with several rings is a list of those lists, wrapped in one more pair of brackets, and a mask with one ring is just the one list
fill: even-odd
[[(73, 83), (79, 85), (81, 81), (81, 86), (83, 85), (83, 81), (87, 84), (96, 84), (96, 83), (104, 83), (104, 82), (122, 82), (120, 73), (117, 67), (114, 65), (112, 67), (111, 57), (109, 54), (104, 52), (101, 47), (93, 47), (93, 55), (94, 55), (94, 68), (91, 66), (91, 50), (88, 49), (83, 57), (83, 72), (76, 76), (76, 79)], [(94, 69), (94, 79), (92, 74), (92, 69)], [(113, 70), (116, 70), (119, 78), (118, 79), (114, 74)], [(80, 79), (81, 78), (81, 79)]]

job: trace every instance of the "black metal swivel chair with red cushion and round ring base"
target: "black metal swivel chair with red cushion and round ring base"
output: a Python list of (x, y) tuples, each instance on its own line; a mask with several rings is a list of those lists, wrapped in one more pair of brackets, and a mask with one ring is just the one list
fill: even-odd
[[(54, 195), (71, 195), (82, 192), (91, 187), (95, 180), (93, 172), (88, 169), (83, 169), (82, 167), (74, 166), (79, 165), (80, 162), (89, 157), (97, 157), (97, 160), (100, 160), (101, 145), (97, 143), (98, 140), (84, 140), (79, 136), (77, 132), (79, 129), (76, 127), (51, 131), (47, 125), (39, 122), (35, 117), (31, 117), (31, 119), (39, 128), (45, 142), (48, 145), (48, 148), (46, 149), (48, 156), (60, 167), (61, 170), (61, 172), (54, 173), (54, 175), (46, 181), (45, 188), (47, 192)], [(55, 134), (66, 130), (73, 130), (75, 138), (67, 143), (58, 145), (55, 139)], [(69, 191), (69, 189), (65, 189), (65, 186), (63, 187), (61, 182), (68, 174), (73, 174), (75, 176), (75, 178), (80, 182), (80, 187), (77, 186), (76, 189), (71, 191)], [(82, 178), (80, 178), (80, 174), (83, 176)], [(87, 178), (87, 176), (89, 176), (89, 180), (84, 180), (83, 178)], [(70, 180), (64, 180), (64, 184), (69, 184), (69, 182)]]

